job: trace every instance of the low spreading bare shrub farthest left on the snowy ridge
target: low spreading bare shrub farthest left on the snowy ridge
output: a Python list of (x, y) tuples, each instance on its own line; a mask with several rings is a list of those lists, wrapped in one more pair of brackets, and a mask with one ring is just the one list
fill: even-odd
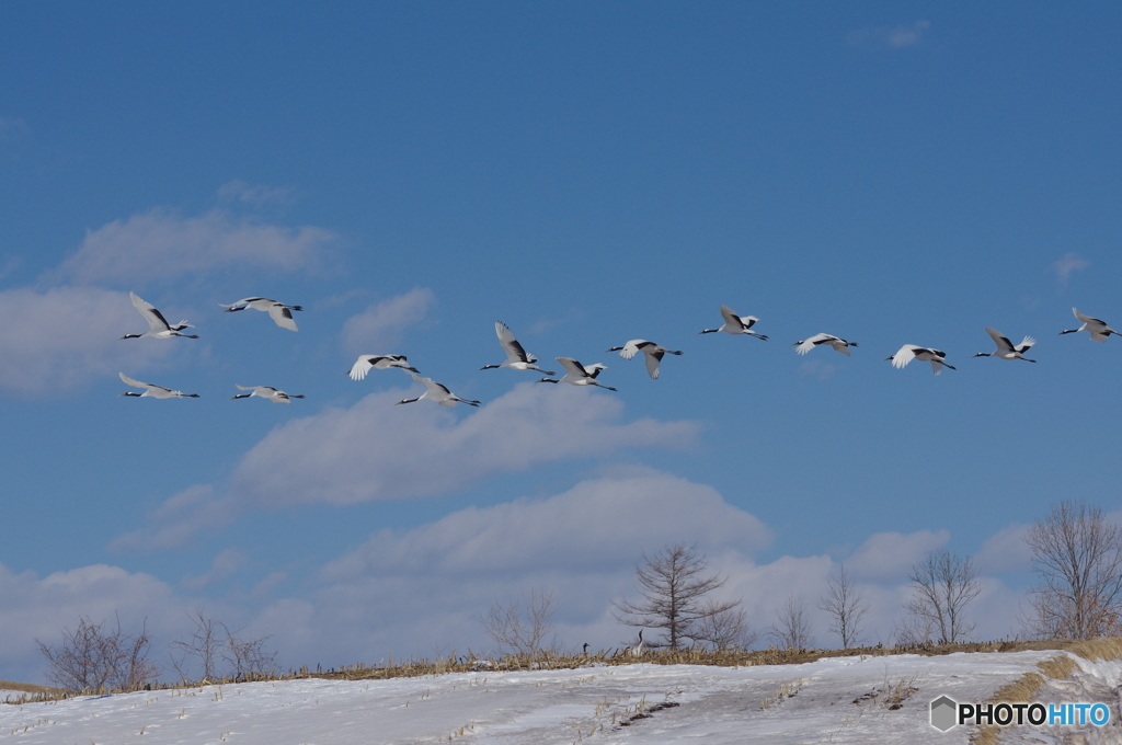
[(121, 631), (121, 619), (116, 617), (116, 628), (107, 622), (93, 623), (80, 617), (71, 632), (63, 629), (63, 642), (47, 646), (36, 640), (39, 652), (47, 660), (47, 680), (59, 688), (83, 690), (136, 690), (159, 675), (159, 666), (148, 659), (151, 637), (147, 620), (136, 635)]

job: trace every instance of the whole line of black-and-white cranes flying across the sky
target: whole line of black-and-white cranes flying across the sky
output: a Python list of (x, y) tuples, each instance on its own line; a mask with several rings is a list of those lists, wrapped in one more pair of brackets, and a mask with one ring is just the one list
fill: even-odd
[[(139, 339), (141, 337), (151, 337), (153, 339), (171, 339), (173, 337), (184, 337), (186, 339), (197, 339), (196, 334), (183, 333), (184, 329), (192, 329), (190, 323), (186, 321), (180, 321), (176, 324), (169, 324), (167, 319), (156, 310), (156, 307), (145, 300), (141, 300), (136, 293), (129, 293), (129, 297), (132, 298), (132, 305), (137, 309), (140, 315), (148, 322), (148, 330), (144, 333), (127, 333), (121, 339)], [(254, 309), (255, 311), (267, 312), (274, 322), (282, 329), (288, 329), (289, 331), (298, 331), (296, 328), (296, 322), (292, 316), (293, 311), (302, 311), (300, 305), (285, 305), (284, 303), (278, 303), (274, 300), (268, 300), (267, 297), (245, 297), (236, 303), (230, 303), (229, 305), (219, 303), (226, 309), (223, 313), (233, 313), (236, 311), (245, 311), (246, 309)], [(1106, 325), (1105, 322), (1098, 319), (1093, 319), (1089, 315), (1084, 315), (1076, 309), (1072, 309), (1072, 313), (1075, 318), (1083, 322), (1078, 329), (1067, 329), (1060, 331), (1060, 334), (1065, 333), (1077, 333), (1079, 331), (1087, 331), (1091, 334), (1091, 339), (1098, 342), (1105, 342), (1106, 339), (1113, 333), (1119, 334), (1118, 331)], [(753, 326), (760, 321), (754, 315), (737, 315), (727, 305), (720, 306), (720, 314), (725, 319), (725, 323), (716, 329), (702, 329), (698, 333), (717, 333), (718, 331), (724, 331), (730, 334), (746, 334), (761, 341), (766, 341), (767, 337), (757, 333)], [(557, 372), (551, 370), (543, 370), (535, 362), (537, 358), (523, 349), (522, 344), (515, 338), (514, 332), (503, 323), (502, 321), (495, 322), (495, 333), (498, 337), (498, 341), (506, 352), (506, 360), (498, 365), (485, 365), (481, 370), (496, 369), (500, 367), (506, 367), (512, 370), (537, 370), (546, 377), (541, 378), (537, 383), (568, 383), (573, 386), (597, 386), (599, 388), (606, 388), (607, 390), (615, 390), (611, 386), (606, 386), (597, 380), (597, 377), (603, 370), (608, 369), (606, 365), (600, 365), (599, 362), (595, 365), (581, 365), (576, 359), (571, 357), (558, 357), (557, 361), (561, 364), (564, 368), (564, 376), (559, 379), (553, 379)], [(1027, 362), (1036, 362), (1034, 359), (1029, 359), (1024, 353), (1034, 344), (1037, 340), (1032, 337), (1024, 337), (1021, 343), (1014, 344), (1009, 340), (1008, 337), (1002, 335), (996, 329), (986, 326), (986, 333), (993, 339), (997, 348), (992, 352), (978, 352), (975, 357), (996, 357), (999, 359), (1014, 360), (1020, 359)], [(815, 347), (820, 346), (833, 347), (836, 351), (843, 355), (849, 356), (849, 348), (857, 347), (855, 341), (846, 341), (839, 337), (835, 337), (828, 333), (817, 333), (802, 341), (797, 341), (792, 344), (794, 351), (799, 355), (806, 355)], [(666, 349), (653, 341), (646, 341), (644, 339), (632, 339), (623, 347), (613, 347), (608, 349), (609, 352), (618, 351), (619, 356), (624, 359), (632, 359), (638, 352), (643, 352), (643, 357), (646, 361), (646, 371), (652, 377), (657, 379), (659, 377), (659, 366), (662, 362), (662, 358), (666, 355), (681, 355), (680, 351), (674, 351), (672, 349)], [(901, 369), (908, 366), (912, 360), (920, 360), (922, 362), (930, 362), (931, 370), (935, 375), (942, 372), (942, 368), (949, 367), (951, 370), (957, 369), (951, 365), (947, 365), (945, 361), (947, 353), (928, 347), (918, 347), (916, 344), (904, 344), (901, 347), (896, 353), (892, 357), (886, 358), (892, 361), (892, 367)], [(478, 401), (471, 401), (470, 398), (461, 398), (448, 389), (447, 386), (432, 380), (431, 378), (423, 378), (420, 375), (420, 370), (412, 367), (404, 355), (361, 355), (358, 360), (348, 371), (352, 380), (362, 380), (366, 378), (367, 372), (371, 369), (386, 370), (389, 368), (401, 368), (410, 372), (413, 379), (417, 383), (424, 384), (426, 390), (417, 396), (416, 398), (405, 398), (398, 404), (412, 404), (413, 402), (421, 401), (422, 398), (427, 398), (429, 401), (435, 402), (441, 406), (454, 407), (457, 403), (468, 404), (469, 406), (478, 406)], [(135, 388), (144, 388), (144, 393), (127, 392), (122, 393), (122, 396), (135, 396), (137, 398), (151, 397), (151, 398), (197, 398), (199, 394), (185, 394), (180, 390), (173, 390), (171, 388), (165, 388), (163, 386), (151, 385), (149, 383), (140, 383), (139, 380), (134, 380), (129, 376), (120, 372), (120, 378), (127, 385)], [(258, 396), (260, 398), (266, 398), (275, 404), (291, 404), (293, 398), (303, 398), (303, 395), (288, 394), (284, 390), (279, 390), (272, 386), (237, 386), (240, 390), (249, 390), (251, 393), (239, 394), (233, 396), (234, 398), (250, 398), (252, 396)]]

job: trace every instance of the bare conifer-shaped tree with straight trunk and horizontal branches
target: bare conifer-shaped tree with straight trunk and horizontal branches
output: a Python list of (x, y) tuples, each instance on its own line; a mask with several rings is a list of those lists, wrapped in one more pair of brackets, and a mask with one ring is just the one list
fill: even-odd
[(703, 618), (739, 605), (738, 600), (707, 601), (706, 596), (726, 581), (718, 574), (707, 574), (707, 568), (696, 545), (675, 543), (650, 558), (644, 553), (643, 563), (635, 567), (635, 582), (643, 599), (613, 600), (613, 615), (628, 626), (661, 628), (663, 638), (655, 644), (678, 650), (684, 640), (695, 638), (695, 627)]

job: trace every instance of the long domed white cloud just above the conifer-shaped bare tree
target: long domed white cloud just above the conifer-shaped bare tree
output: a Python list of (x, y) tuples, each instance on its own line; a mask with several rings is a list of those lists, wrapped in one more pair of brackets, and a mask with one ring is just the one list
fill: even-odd
[(403, 535), (379, 532), (324, 567), (323, 578), (353, 581), (387, 571), (488, 576), (514, 567), (596, 571), (631, 564), (643, 550), (675, 541), (751, 554), (766, 546), (770, 535), (710, 486), (649, 468), (609, 469), (548, 499), (469, 507)]

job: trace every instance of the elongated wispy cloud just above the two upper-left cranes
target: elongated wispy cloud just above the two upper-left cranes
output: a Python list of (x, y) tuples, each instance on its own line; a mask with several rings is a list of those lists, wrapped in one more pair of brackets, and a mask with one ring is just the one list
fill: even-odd
[(86, 232), (61, 269), (77, 283), (167, 279), (238, 264), (291, 272), (312, 265), (334, 234), (233, 219), (222, 210), (182, 218), (164, 209), (114, 220)]

